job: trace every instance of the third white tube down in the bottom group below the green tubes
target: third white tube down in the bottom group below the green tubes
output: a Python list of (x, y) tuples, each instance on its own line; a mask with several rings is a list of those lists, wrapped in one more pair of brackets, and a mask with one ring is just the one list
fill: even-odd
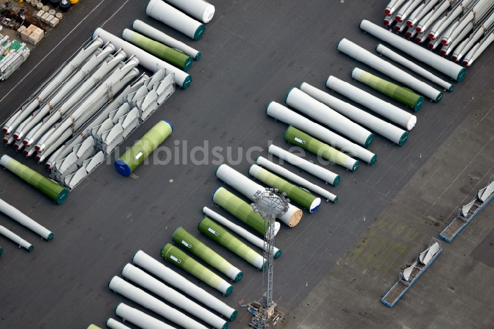
[(128, 299), (136, 302), (137, 304), (161, 315), (165, 319), (176, 323), (179, 326), (182, 326), (186, 329), (206, 329), (206, 327), (201, 325), (199, 322), (166, 305), (164, 302), (156, 297), (153, 297), (144, 290), (129, 284), (122, 278), (119, 278), (117, 276), (113, 277), (113, 279), (108, 284), (108, 287), (113, 291), (118, 292)]

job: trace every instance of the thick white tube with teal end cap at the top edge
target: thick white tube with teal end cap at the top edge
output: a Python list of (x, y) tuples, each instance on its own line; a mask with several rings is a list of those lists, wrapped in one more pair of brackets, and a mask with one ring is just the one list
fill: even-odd
[(146, 15), (165, 23), (194, 40), (201, 39), (205, 30), (204, 24), (190, 18), (162, 0), (150, 0), (146, 6)]

